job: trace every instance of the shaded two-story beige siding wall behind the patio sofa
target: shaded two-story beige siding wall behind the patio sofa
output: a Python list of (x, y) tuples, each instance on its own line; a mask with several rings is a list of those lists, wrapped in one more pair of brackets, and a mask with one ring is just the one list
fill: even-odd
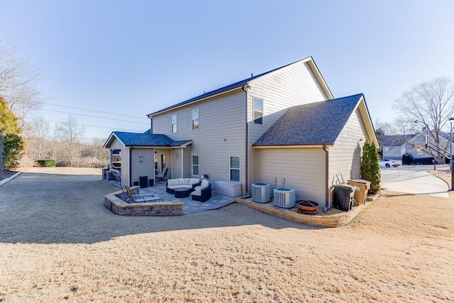
[[(199, 130), (192, 130), (192, 109), (199, 109)], [(172, 114), (178, 115), (178, 131), (172, 133)], [(242, 182), (245, 180), (245, 92), (230, 94), (184, 106), (153, 116), (153, 133), (163, 133), (173, 140), (192, 140), (191, 155), (199, 155), (200, 175), (210, 182), (229, 179), (229, 156), (241, 159)], [(184, 171), (192, 161), (184, 162)], [(189, 170), (189, 172), (191, 172)], [(244, 187), (244, 183), (243, 183)]]

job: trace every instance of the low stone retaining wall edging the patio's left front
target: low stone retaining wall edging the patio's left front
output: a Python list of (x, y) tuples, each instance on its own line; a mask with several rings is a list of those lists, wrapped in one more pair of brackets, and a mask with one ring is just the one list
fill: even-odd
[(184, 202), (126, 203), (114, 192), (104, 196), (104, 206), (119, 216), (181, 216)]

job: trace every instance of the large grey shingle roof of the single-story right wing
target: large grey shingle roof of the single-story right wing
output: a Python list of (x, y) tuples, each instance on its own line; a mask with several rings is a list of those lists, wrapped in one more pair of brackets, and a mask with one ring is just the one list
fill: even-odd
[(293, 106), (254, 146), (333, 144), (362, 94)]

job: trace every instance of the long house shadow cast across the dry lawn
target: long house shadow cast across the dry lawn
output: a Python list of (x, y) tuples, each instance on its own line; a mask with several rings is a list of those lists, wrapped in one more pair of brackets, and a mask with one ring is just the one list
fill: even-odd
[(104, 207), (115, 187), (99, 175), (24, 172), (0, 187), (0, 242), (96, 243), (138, 233), (260, 224), (307, 228), (231, 204), (221, 209), (173, 217), (117, 216)]

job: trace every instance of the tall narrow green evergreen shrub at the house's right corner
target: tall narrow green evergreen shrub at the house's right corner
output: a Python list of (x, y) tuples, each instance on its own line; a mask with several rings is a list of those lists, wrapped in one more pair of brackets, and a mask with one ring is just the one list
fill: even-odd
[(381, 189), (380, 181), (380, 158), (378, 156), (375, 143), (366, 141), (362, 146), (361, 157), (361, 178), (370, 181), (370, 191), (379, 192)]

